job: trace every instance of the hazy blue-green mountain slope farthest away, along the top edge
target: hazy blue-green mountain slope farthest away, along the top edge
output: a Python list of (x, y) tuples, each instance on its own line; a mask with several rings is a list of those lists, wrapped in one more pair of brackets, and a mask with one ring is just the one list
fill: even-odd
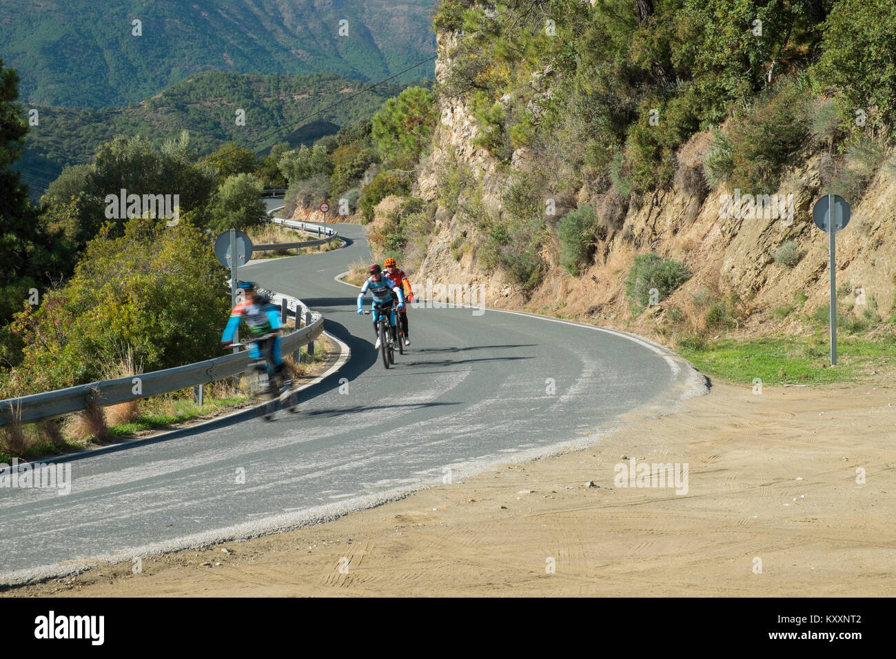
[[(30, 106), (104, 108), (203, 71), (380, 80), (435, 54), (436, 0), (3, 0), (0, 54)], [(142, 22), (134, 36), (132, 22)], [(347, 21), (348, 36), (340, 36)], [(433, 65), (409, 72), (409, 82)]]

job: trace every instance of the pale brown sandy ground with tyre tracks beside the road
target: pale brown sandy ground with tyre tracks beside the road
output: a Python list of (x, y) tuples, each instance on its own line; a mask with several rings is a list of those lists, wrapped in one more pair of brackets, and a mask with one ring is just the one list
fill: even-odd
[[(716, 384), (588, 450), (5, 595), (892, 596), (894, 440), (883, 376), (760, 395)], [(687, 493), (616, 487), (631, 458), (687, 463)]]

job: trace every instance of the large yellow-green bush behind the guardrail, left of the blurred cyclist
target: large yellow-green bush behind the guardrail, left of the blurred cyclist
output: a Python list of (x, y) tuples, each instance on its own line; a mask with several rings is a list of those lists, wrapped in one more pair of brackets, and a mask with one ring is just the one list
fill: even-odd
[(103, 379), (128, 351), (147, 371), (219, 355), (225, 279), (207, 235), (185, 217), (176, 227), (134, 218), (122, 238), (103, 232), (65, 288), (15, 316), (25, 348), (6, 384), (26, 395)]

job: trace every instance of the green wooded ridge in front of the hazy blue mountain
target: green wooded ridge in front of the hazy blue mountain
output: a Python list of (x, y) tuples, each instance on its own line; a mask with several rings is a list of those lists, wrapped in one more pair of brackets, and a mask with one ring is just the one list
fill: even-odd
[[(99, 145), (116, 134), (140, 134), (161, 144), (186, 129), (200, 153), (226, 142), (256, 153), (266, 153), (274, 143), (312, 143), (372, 116), (404, 85), (383, 84), (352, 96), (363, 86), (338, 75), (209, 72), (127, 108), (38, 107), (39, 125), (30, 126), (17, 165), (37, 198), (65, 166), (90, 162)], [(337, 107), (306, 118), (340, 100)], [(246, 110), (246, 126), (237, 126), (237, 109)]]

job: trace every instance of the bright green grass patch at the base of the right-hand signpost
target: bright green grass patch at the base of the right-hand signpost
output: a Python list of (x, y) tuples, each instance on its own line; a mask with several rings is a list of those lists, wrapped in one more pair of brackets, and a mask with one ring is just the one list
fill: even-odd
[(764, 337), (688, 342), (678, 353), (710, 377), (743, 385), (756, 377), (763, 385), (828, 385), (859, 382), (871, 371), (896, 369), (896, 335), (870, 341), (837, 341), (837, 366), (831, 366), (827, 337)]

